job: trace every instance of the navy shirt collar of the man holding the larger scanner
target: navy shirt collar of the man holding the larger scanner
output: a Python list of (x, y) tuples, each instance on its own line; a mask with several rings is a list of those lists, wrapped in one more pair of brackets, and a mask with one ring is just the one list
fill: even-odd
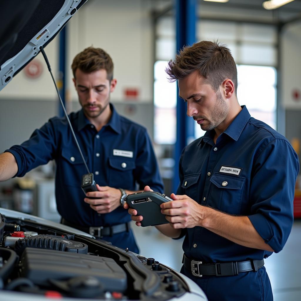
[[(224, 131), (226, 135), (228, 135), (235, 141), (238, 140), (241, 132), (243, 131), (244, 127), (246, 126), (247, 122), (251, 117), (246, 106), (241, 106), (241, 109), (242, 110), (238, 113), (238, 115), (234, 118), (234, 120), (231, 122), (228, 128)], [(204, 142), (208, 143), (211, 139), (213, 139), (214, 134), (214, 129), (211, 131), (207, 131), (198, 145)]]

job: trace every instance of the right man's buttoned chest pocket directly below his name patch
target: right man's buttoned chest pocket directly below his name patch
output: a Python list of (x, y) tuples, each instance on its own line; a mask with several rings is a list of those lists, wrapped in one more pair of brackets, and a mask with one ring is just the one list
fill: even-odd
[(214, 173), (207, 205), (230, 214), (240, 214), (246, 178)]

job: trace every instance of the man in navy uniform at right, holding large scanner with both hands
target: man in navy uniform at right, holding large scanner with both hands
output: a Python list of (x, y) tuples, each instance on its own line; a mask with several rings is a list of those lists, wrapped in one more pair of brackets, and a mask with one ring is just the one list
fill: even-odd
[[(184, 148), (177, 194), (161, 205), (169, 224), (157, 228), (185, 236), (181, 272), (209, 300), (272, 300), (264, 259), (282, 250), (292, 228), (297, 154), (238, 104), (236, 64), (225, 45), (185, 47), (166, 72), (206, 133)], [(141, 225), (143, 217), (129, 213)]]

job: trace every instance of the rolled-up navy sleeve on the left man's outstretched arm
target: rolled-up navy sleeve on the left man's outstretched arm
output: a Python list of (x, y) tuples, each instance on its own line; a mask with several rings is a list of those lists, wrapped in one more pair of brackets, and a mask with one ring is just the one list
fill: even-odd
[(30, 138), (21, 145), (14, 145), (5, 152), (14, 155), (18, 172), (15, 177), (23, 177), (31, 169), (43, 165), (54, 159), (56, 137), (51, 121), (36, 129)]

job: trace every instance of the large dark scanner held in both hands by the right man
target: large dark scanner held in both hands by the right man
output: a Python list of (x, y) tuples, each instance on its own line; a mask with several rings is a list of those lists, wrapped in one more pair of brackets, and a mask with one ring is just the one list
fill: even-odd
[(131, 208), (137, 210), (137, 215), (143, 216), (143, 220), (141, 221), (142, 227), (169, 223), (165, 215), (161, 213), (160, 208), (160, 204), (172, 201), (165, 194), (155, 191), (135, 192), (129, 194), (125, 198), (125, 201)]

